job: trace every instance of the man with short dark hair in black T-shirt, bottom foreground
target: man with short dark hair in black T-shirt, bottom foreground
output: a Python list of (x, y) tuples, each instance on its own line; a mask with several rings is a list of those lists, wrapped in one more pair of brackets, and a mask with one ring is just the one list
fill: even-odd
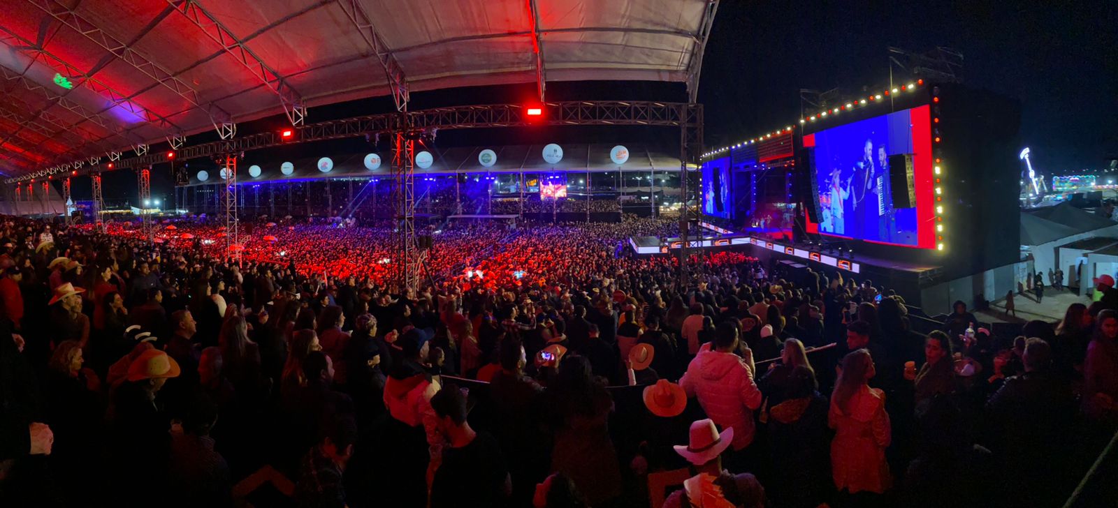
[(457, 386), (439, 390), (430, 405), (447, 438), (430, 489), (432, 508), (500, 506), (512, 493), (512, 479), (495, 438), (466, 421), (466, 395)]

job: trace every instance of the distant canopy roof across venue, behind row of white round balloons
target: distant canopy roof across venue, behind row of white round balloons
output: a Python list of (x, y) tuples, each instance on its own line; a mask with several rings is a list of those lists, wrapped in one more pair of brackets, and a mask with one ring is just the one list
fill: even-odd
[[(425, 175), (453, 175), (455, 173), (603, 173), (620, 171), (623, 173), (679, 173), (680, 157), (663, 152), (657, 152), (657, 147), (641, 143), (625, 143), (629, 151), (629, 157), (624, 164), (615, 164), (609, 159), (610, 148), (615, 144), (567, 144), (562, 146), (562, 160), (555, 164), (549, 164), (543, 160), (543, 145), (508, 145), (508, 146), (458, 146), (449, 148), (430, 148), (432, 165), (427, 169), (416, 166), (417, 179)], [(496, 161), (492, 166), (483, 166), (479, 162), (479, 155), (483, 150), (492, 150), (496, 154)], [(305, 181), (326, 179), (370, 179), (387, 178), (391, 174), (389, 161), (391, 152), (380, 152), (377, 155), (381, 164), (376, 170), (369, 170), (364, 165), (366, 153), (312, 153), (305, 157), (292, 159), (290, 161), (276, 159), (275, 156), (264, 156), (263, 152), (249, 152), (245, 159), (237, 163), (237, 182), (245, 185), (283, 182), (283, 181)], [(333, 167), (330, 172), (319, 171), (318, 164), (322, 157), (330, 157)], [(292, 163), (292, 174), (285, 175), (280, 166), (284, 162)], [(249, 169), (253, 165), (260, 167), (260, 175), (253, 178)], [(200, 181), (198, 173), (206, 171), (207, 179)], [(190, 185), (218, 184), (220, 170), (206, 169), (189, 172)]]

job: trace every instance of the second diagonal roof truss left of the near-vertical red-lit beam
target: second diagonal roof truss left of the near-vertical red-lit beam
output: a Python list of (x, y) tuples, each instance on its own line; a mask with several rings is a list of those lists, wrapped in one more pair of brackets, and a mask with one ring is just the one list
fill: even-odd
[(253, 73), (269, 90), (280, 97), (280, 104), (292, 125), (303, 125), (306, 117), (306, 106), (302, 97), (278, 73), (272, 69), (245, 44), (225, 28), (220, 21), (203, 9), (196, 0), (167, 0), (174, 10), (186, 16), (207, 37), (221, 46), (240, 65)]

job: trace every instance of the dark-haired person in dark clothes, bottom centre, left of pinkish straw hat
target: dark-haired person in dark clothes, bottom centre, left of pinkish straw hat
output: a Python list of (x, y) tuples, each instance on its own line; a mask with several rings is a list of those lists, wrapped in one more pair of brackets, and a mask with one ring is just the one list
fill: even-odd
[(590, 506), (619, 496), (620, 468), (607, 426), (614, 401), (591, 374), (590, 362), (578, 355), (562, 358), (547, 393), (555, 426), (551, 469), (571, 478)]

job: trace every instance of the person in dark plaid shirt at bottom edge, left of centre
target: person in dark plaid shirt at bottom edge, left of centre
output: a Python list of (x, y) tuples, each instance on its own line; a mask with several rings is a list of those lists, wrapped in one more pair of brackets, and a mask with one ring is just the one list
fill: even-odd
[(347, 415), (332, 418), (324, 425), (318, 444), (303, 457), (293, 498), (296, 506), (344, 508), (342, 477), (353, 456), (357, 423)]

